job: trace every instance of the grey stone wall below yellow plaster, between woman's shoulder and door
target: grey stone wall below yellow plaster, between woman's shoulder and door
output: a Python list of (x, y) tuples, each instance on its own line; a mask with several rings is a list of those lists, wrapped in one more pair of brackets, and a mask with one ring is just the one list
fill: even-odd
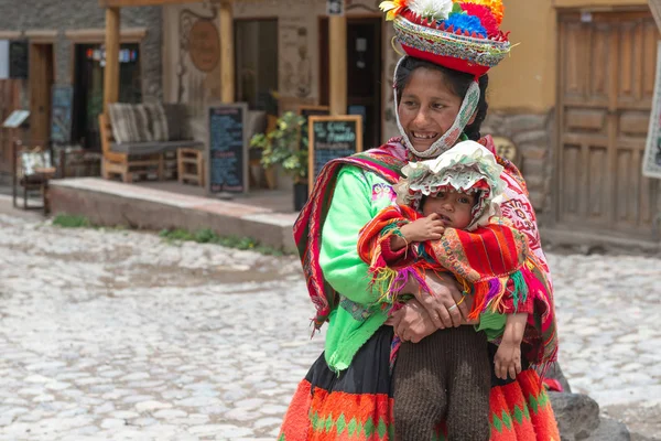
[(525, 178), (539, 220), (551, 212), (554, 123), (553, 110), (549, 114), (489, 110), (481, 130), (483, 135), (508, 138), (517, 147), (517, 165)]

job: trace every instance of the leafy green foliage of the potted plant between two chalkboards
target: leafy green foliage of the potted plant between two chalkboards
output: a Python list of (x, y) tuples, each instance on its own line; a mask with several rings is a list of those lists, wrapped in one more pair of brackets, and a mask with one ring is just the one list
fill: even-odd
[(261, 164), (264, 168), (282, 165), (295, 182), (307, 179), (307, 149), (299, 149), (301, 127), (305, 118), (288, 111), (278, 119), (275, 129), (269, 133), (258, 133), (250, 140), (250, 147), (262, 149)]

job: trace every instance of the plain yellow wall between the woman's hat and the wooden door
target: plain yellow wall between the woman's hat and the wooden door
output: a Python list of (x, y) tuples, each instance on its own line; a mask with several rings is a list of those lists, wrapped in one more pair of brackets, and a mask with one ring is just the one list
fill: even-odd
[(647, 0), (505, 0), (502, 30), (510, 31), (509, 58), (490, 73), (489, 106), (503, 111), (546, 112), (555, 105), (556, 11), (647, 6)]

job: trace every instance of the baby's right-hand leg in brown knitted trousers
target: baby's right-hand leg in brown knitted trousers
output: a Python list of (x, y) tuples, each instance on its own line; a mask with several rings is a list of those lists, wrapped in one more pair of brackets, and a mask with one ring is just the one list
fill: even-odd
[(448, 372), (447, 430), (451, 440), (488, 441), (491, 366), (487, 336), (473, 326), (448, 330), (452, 338), (452, 366)]

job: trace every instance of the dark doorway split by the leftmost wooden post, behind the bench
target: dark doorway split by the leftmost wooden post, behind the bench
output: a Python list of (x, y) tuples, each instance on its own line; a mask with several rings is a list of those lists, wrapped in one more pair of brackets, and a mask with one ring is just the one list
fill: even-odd
[[(74, 50), (74, 110), (72, 142), (101, 151), (98, 116), (104, 111), (106, 51), (101, 44), (76, 44)], [(140, 44), (119, 47), (119, 103), (142, 101)]]

